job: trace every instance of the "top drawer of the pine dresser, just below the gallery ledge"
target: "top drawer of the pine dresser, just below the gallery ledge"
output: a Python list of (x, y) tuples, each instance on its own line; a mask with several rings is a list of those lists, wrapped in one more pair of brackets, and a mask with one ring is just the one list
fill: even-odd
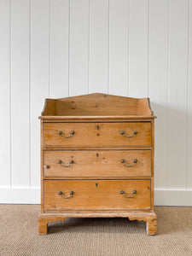
[(151, 145), (151, 123), (44, 123), (44, 147)]

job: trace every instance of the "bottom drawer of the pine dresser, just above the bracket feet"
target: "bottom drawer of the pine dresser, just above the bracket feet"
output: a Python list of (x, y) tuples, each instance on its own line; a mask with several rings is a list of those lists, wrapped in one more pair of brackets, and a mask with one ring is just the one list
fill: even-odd
[(150, 207), (150, 180), (44, 180), (44, 212)]

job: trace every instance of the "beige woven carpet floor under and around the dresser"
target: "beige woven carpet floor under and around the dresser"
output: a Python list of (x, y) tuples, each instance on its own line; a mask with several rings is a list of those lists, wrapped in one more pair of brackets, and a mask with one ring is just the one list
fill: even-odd
[(67, 218), (38, 235), (39, 205), (0, 205), (0, 255), (192, 256), (192, 207), (155, 207), (158, 234), (127, 218)]

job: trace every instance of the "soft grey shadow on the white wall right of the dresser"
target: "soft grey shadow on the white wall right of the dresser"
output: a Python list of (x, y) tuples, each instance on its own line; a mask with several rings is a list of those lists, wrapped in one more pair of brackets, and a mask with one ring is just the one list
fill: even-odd
[[(155, 189), (186, 189), (192, 187), (190, 170), (192, 161), (187, 149), (192, 148), (187, 124), (192, 124), (192, 114), (187, 108), (179, 109), (151, 102), (154, 115), (154, 187)], [(192, 154), (192, 153), (191, 153)], [(187, 167), (188, 162), (188, 167)], [(187, 170), (188, 168), (188, 170)]]

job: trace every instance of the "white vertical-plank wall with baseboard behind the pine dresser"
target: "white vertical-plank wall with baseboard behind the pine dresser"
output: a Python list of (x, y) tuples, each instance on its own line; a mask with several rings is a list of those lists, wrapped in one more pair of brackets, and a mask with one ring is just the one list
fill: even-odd
[(39, 203), (44, 99), (151, 100), (155, 204), (192, 206), (192, 0), (0, 0), (0, 202)]

